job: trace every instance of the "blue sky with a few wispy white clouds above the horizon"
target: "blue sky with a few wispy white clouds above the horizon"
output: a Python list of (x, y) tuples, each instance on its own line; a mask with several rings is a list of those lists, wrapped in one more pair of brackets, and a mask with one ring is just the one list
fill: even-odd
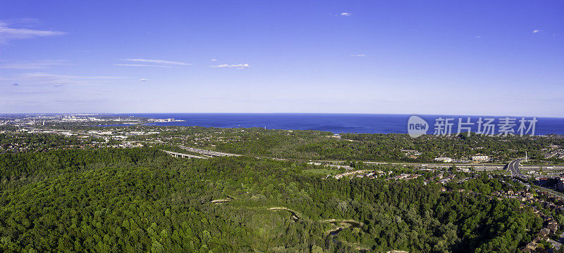
[(563, 1), (1, 1), (0, 112), (564, 116)]

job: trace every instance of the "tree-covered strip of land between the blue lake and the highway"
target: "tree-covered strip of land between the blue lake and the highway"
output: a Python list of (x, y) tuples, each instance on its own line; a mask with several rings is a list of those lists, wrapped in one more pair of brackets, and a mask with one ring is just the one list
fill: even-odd
[[(137, 126), (139, 128), (139, 126)], [(148, 126), (143, 126), (148, 127)], [(434, 162), (436, 157), (470, 159), (489, 155), (496, 162), (525, 156), (544, 159), (546, 148), (561, 144), (558, 136), (433, 136), (411, 138), (407, 134), (341, 134), (310, 130), (259, 128), (204, 128), (199, 126), (155, 127), (158, 136), (135, 136), (135, 140), (161, 138), (173, 144), (207, 148), (259, 157), (300, 160), (364, 160), (384, 162)], [(406, 150), (412, 150), (406, 151)]]

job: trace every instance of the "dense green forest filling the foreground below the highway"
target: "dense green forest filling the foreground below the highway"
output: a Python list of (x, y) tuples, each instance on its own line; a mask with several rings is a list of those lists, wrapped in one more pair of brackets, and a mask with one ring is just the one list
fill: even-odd
[(443, 193), (311, 166), (152, 148), (0, 155), (0, 251), (517, 252), (542, 225), (491, 199), (514, 186), (486, 175)]

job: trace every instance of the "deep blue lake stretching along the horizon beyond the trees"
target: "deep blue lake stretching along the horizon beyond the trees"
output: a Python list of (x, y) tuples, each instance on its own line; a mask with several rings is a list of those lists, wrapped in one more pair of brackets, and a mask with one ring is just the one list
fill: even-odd
[[(407, 120), (411, 115), (374, 115), (374, 114), (305, 114), (305, 113), (136, 113), (122, 114), (123, 116), (150, 117), (154, 119), (182, 119), (185, 122), (158, 122), (149, 123), (156, 126), (205, 126), (205, 127), (266, 127), (267, 129), (300, 129), (320, 130), (338, 133), (362, 133), (362, 134), (407, 134)], [(429, 123), (427, 134), (433, 134), (436, 119), (451, 118), (453, 123), (453, 134), (458, 129), (458, 119), (462, 122), (470, 122), (467, 125), (472, 131), (477, 131), (477, 122), (480, 117), (488, 116), (462, 116), (462, 115), (418, 115)], [(494, 118), (496, 134), (498, 124), (503, 117)], [(512, 128), (517, 133), (521, 117), (510, 117), (515, 119)], [(531, 120), (533, 117), (525, 117)], [(535, 135), (564, 134), (564, 118), (560, 117), (536, 117)], [(485, 121), (485, 120), (484, 120)], [(529, 122), (526, 122), (528, 128)], [(530, 134), (530, 131), (529, 131)]]

